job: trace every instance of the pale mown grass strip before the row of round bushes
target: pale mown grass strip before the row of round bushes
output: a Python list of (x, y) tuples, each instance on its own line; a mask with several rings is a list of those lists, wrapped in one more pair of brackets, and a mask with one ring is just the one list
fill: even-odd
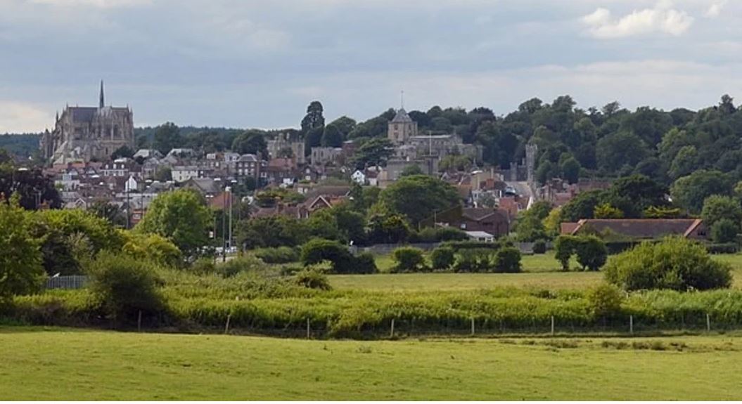
[[(734, 268), (734, 287), (742, 288), (742, 254), (720, 254), (714, 259)], [(390, 256), (378, 256), (378, 268), (384, 272), (393, 266)], [(462, 291), (496, 287), (582, 289), (603, 282), (600, 272), (560, 272), (554, 253), (522, 256), (522, 274), (375, 274), (332, 275), (330, 282), (338, 289), (385, 291)], [(573, 259), (572, 267), (577, 268)]]

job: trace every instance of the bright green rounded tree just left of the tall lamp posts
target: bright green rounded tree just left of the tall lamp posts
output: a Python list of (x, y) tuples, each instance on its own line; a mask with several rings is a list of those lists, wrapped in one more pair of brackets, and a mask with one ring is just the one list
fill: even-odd
[(160, 234), (174, 242), (185, 256), (199, 256), (209, 243), (211, 211), (196, 192), (178, 190), (160, 193), (135, 231)]

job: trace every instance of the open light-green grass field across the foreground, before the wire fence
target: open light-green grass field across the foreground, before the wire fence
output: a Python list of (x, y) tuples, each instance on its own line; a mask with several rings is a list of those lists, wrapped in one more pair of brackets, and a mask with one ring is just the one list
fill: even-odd
[(351, 342), (40, 330), (0, 328), (3, 400), (742, 399), (742, 340), (731, 337)]

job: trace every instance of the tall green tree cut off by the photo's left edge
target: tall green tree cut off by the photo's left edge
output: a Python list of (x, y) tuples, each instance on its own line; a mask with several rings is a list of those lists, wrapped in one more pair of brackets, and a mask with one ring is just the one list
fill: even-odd
[(42, 286), (41, 240), (31, 233), (27, 213), (18, 205), (0, 202), (0, 303), (19, 294), (30, 294)]

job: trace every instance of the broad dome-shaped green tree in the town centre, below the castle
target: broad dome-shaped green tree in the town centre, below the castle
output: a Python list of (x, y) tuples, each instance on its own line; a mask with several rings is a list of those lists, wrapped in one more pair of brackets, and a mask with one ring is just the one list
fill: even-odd
[(418, 225), (422, 219), (460, 205), (456, 188), (432, 176), (406, 176), (381, 191), (379, 202)]

